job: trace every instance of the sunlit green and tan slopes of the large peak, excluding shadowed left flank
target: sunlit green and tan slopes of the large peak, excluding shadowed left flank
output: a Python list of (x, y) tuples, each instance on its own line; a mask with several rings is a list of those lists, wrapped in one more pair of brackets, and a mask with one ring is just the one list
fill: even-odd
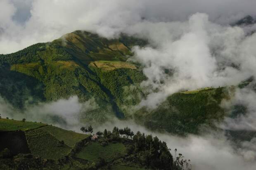
[[(125, 61), (132, 54), (132, 45), (145, 43), (145, 40), (125, 35), (107, 40), (96, 34), (75, 31), (52, 43), (38, 43), (13, 54), (0, 55), (0, 63), (12, 73), (22, 73), (39, 81), (44, 86), (41, 100), (56, 101), (77, 95), (84, 102), (95, 97), (102, 107), (110, 105), (109, 112), (114, 111), (123, 118), (120, 107), (127, 103), (123, 88), (145, 80), (138, 66)], [(33, 85), (28, 89), (33, 91)], [(140, 92), (138, 88), (137, 92)], [(8, 95), (2, 96), (8, 98)], [(25, 100), (19, 101), (19, 105)], [(131, 99), (129, 103), (138, 101)]]

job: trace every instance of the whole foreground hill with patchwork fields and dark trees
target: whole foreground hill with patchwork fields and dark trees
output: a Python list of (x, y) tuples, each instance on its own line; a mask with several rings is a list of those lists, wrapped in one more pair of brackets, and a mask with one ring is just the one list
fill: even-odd
[[(166, 143), (157, 137), (140, 132), (134, 135), (129, 128), (119, 130), (117, 127), (112, 132), (104, 130), (97, 134), (84, 135), (44, 123), (1, 118), (0, 169), (181, 168), (179, 159), (173, 161)], [(190, 166), (189, 162), (186, 161), (186, 165)]]

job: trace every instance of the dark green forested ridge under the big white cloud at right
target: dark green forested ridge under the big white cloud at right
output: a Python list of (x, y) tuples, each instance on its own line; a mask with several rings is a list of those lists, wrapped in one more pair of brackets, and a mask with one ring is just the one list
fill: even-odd
[(152, 130), (166, 130), (178, 135), (198, 134), (199, 127), (214, 123), (225, 116), (220, 107), (223, 98), (228, 97), (224, 87), (180, 92), (168, 97), (153, 111), (142, 108), (135, 113), (135, 120)]

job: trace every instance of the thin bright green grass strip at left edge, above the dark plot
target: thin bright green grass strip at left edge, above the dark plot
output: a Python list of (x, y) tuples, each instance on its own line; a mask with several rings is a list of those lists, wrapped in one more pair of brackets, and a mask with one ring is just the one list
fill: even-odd
[(46, 126), (43, 123), (23, 122), (19, 120), (0, 119), (0, 131), (15, 131), (15, 130), (31, 130), (41, 126)]

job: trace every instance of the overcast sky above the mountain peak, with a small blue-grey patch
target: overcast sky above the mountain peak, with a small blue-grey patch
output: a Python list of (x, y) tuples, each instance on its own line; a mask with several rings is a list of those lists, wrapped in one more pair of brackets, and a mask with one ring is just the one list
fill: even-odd
[(186, 21), (201, 12), (218, 24), (256, 15), (255, 0), (0, 0), (0, 53), (52, 41), (74, 30), (106, 37), (143, 21)]

